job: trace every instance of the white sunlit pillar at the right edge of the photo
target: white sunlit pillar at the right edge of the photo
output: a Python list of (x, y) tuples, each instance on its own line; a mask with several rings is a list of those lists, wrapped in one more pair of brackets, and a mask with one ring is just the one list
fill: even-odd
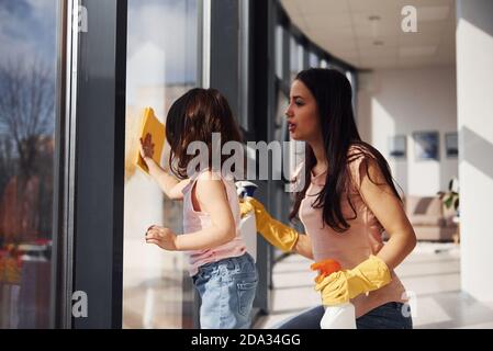
[(462, 290), (493, 302), (493, 1), (457, 2)]

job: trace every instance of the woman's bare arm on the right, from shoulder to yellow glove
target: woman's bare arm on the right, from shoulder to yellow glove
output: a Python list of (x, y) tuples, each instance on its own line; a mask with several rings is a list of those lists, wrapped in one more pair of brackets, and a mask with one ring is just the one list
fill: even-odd
[(368, 172), (361, 174), (360, 194), (390, 236), (389, 241), (377, 256), (392, 270), (413, 251), (416, 246), (416, 235), (402, 203), (385, 182), (379, 166), (371, 159), (363, 162), (368, 162)]

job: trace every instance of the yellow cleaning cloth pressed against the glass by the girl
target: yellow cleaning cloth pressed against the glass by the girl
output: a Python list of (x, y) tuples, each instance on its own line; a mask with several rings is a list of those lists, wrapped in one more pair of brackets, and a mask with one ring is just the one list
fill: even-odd
[[(139, 138), (145, 140), (147, 134), (150, 135), (150, 140), (154, 144), (153, 159), (156, 163), (160, 165), (163, 147), (165, 146), (166, 140), (165, 125), (159, 122), (152, 107), (146, 107), (144, 110)], [(149, 169), (139, 151), (137, 152), (137, 166), (147, 174), (149, 173)]]

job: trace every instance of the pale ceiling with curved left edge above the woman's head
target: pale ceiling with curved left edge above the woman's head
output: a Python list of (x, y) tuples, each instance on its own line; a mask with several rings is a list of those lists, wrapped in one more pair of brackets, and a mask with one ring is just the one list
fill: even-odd
[[(281, 0), (312, 42), (358, 68), (453, 65), (455, 0)], [(404, 5), (417, 10), (417, 32), (405, 33)]]

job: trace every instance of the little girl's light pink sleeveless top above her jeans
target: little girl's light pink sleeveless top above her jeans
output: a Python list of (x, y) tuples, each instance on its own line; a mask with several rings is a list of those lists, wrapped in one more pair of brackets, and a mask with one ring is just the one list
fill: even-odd
[[(209, 170), (203, 170), (205, 172)], [(202, 173), (198, 173), (187, 186), (183, 188), (183, 233), (195, 233), (203, 228), (211, 226), (211, 216), (209, 213), (195, 211), (192, 204), (192, 190), (195, 186), (198, 177)], [(238, 257), (246, 252), (245, 242), (239, 234), (239, 203), (238, 195), (236, 193), (236, 185), (232, 178), (221, 177), (220, 172), (214, 172), (216, 179), (221, 179), (226, 190), (227, 201), (233, 213), (233, 218), (236, 224), (236, 237), (219, 247), (208, 248), (202, 250), (186, 251), (189, 259), (189, 273), (193, 276), (198, 273), (199, 267), (217, 262), (222, 259), (229, 257)]]

